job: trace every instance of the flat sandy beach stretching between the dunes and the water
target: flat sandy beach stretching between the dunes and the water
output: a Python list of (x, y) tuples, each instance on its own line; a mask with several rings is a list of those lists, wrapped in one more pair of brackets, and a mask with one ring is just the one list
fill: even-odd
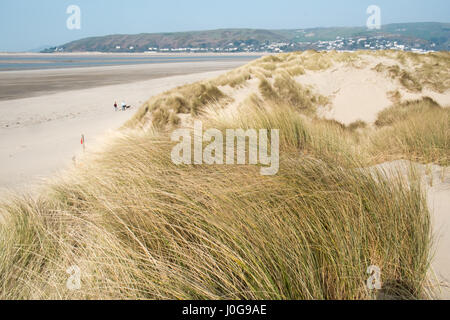
[[(212, 78), (245, 61), (0, 73), (0, 193), (30, 191), (117, 129), (152, 95)], [(114, 111), (125, 101), (132, 108)]]

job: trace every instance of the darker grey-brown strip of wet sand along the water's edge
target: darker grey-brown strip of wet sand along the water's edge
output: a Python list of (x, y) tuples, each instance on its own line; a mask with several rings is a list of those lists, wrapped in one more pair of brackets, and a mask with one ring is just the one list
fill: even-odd
[[(256, 57), (254, 57), (256, 58)], [(0, 101), (233, 69), (252, 58), (49, 70), (0, 71)], [(0, 112), (3, 109), (0, 103)], [(0, 117), (1, 119), (1, 117)]]

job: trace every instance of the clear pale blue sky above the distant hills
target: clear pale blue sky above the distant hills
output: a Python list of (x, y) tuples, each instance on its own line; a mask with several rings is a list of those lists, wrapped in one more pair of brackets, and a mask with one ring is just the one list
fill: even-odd
[[(0, 0), (0, 51), (116, 33), (363, 26), (372, 4), (383, 24), (450, 22), (449, 0)], [(80, 30), (66, 27), (69, 5)]]

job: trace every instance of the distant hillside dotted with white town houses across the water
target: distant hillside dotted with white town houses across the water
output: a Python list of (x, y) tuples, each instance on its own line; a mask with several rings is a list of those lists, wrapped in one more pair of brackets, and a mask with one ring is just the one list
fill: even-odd
[(45, 52), (258, 52), (304, 49), (449, 50), (450, 23), (389, 24), (295, 30), (220, 29), (176, 33), (108, 35), (73, 41)]

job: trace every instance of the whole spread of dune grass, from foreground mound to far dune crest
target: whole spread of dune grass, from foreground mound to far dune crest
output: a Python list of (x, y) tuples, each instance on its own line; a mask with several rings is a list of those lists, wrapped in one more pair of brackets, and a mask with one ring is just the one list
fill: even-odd
[[(448, 111), (406, 103), (376, 128), (315, 117), (324, 101), (293, 82), (293, 69), (358, 60), (269, 56), (150, 99), (128, 123), (148, 130), (122, 130), (39, 196), (0, 203), (0, 299), (374, 299), (371, 265), (382, 271), (379, 294), (428, 297), (420, 178), (361, 168), (391, 157), (448, 163)], [(260, 92), (226, 110), (221, 87), (250, 78)], [(280, 129), (278, 175), (176, 166), (167, 124), (181, 113), (205, 128)], [(69, 291), (73, 265), (82, 286)]]

